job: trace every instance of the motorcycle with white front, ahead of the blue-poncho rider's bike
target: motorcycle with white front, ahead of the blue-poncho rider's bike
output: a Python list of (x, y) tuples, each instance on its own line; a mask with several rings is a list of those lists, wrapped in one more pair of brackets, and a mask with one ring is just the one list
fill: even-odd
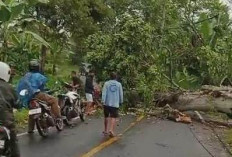
[(66, 94), (58, 95), (59, 104), (61, 107), (61, 115), (65, 117), (64, 123), (66, 125), (72, 124), (72, 119), (80, 117), (81, 121), (85, 121), (85, 108), (81, 103), (80, 94), (77, 90), (72, 89), (72, 86), (64, 82), (64, 86), (68, 89)]

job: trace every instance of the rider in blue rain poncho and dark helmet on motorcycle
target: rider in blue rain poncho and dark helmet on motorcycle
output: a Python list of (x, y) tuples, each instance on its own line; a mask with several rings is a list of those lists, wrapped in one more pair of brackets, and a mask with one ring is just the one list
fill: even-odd
[[(52, 114), (55, 116), (57, 123), (62, 121), (60, 107), (58, 105), (58, 99), (47, 94), (44, 89), (47, 83), (47, 78), (41, 74), (40, 62), (33, 59), (29, 63), (29, 72), (20, 80), (17, 92), (20, 95), (22, 90), (27, 90), (27, 98), (24, 100), (28, 104), (31, 99), (36, 98), (46, 102), (51, 106)], [(28, 121), (28, 133), (33, 133), (35, 127), (35, 121), (29, 116)]]

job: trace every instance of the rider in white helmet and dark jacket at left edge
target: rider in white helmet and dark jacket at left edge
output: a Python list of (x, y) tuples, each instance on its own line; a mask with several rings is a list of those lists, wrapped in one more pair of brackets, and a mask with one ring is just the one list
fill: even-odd
[(8, 83), (11, 76), (10, 66), (0, 62), (0, 69), (0, 126), (10, 130), (10, 157), (20, 157), (13, 115), (13, 108), (18, 108), (18, 97)]

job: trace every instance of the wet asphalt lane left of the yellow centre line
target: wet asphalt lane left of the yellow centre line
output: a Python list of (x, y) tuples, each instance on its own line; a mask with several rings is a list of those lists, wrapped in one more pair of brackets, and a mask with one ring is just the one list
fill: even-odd
[[(117, 131), (123, 131), (134, 120), (134, 116), (126, 116), (119, 122)], [(79, 121), (77, 126), (60, 133), (52, 128), (46, 139), (38, 133), (18, 137), (22, 157), (79, 157), (108, 140), (102, 135), (102, 118), (87, 118), (87, 123)]]

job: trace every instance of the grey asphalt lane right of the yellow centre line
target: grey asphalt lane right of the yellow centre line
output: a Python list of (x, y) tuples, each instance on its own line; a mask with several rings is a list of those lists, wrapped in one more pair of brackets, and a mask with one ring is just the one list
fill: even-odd
[(96, 157), (210, 157), (184, 124), (143, 121)]

